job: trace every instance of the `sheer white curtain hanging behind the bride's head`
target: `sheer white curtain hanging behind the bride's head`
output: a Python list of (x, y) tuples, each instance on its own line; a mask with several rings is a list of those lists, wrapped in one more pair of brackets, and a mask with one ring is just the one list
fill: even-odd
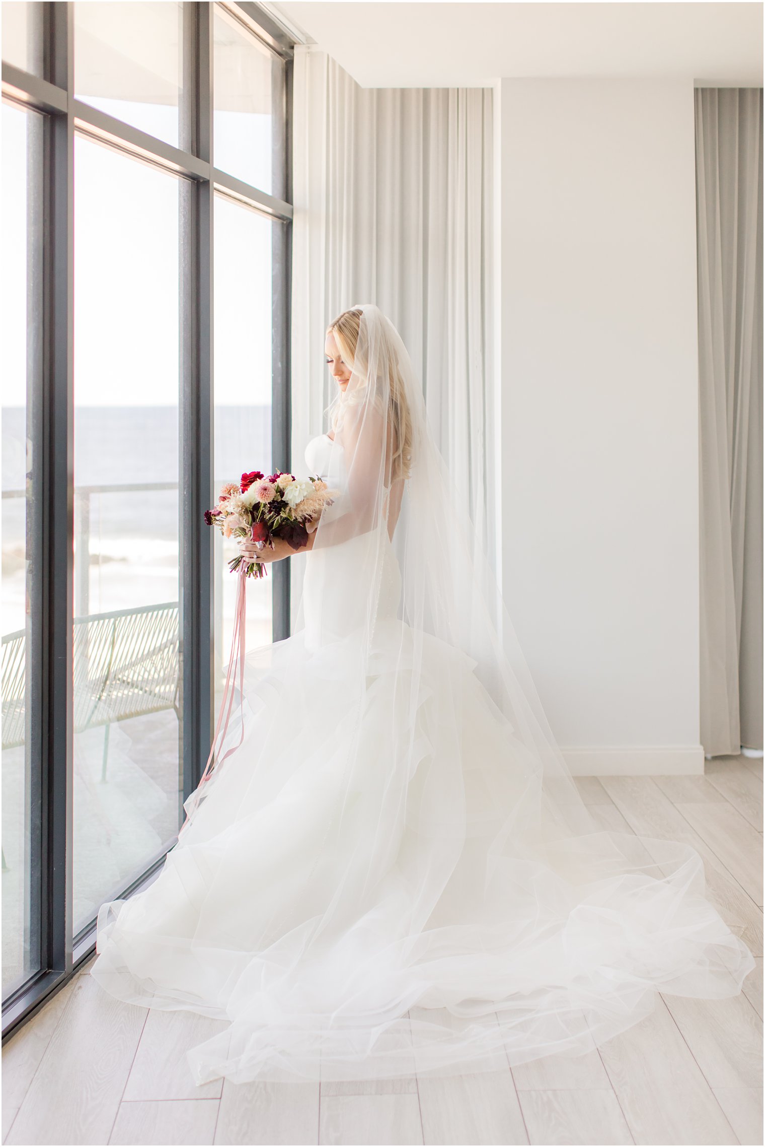
[(298, 46), (293, 96), (293, 468), (325, 429), (326, 325), (376, 303), (494, 561), (491, 89), (362, 88)]

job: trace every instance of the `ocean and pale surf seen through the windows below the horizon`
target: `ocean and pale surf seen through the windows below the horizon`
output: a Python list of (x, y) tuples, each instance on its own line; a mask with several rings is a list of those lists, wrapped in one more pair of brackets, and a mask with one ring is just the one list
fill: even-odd
[[(25, 485), (25, 408), (2, 407), (2, 489)], [(271, 407), (215, 409), (218, 484), (244, 470), (271, 469)], [(76, 580), (77, 528), (82, 486), (179, 481), (179, 409), (175, 406), (74, 408)], [(228, 545), (228, 544), (227, 544)], [(93, 493), (89, 497), (87, 612), (176, 601), (179, 598), (178, 490)], [(234, 585), (223, 568), (223, 614), (234, 610)], [(268, 580), (268, 579), (266, 579)], [(249, 623), (270, 612), (270, 588), (250, 592)], [(2, 632), (24, 626), (25, 499), (2, 499)], [(77, 612), (77, 608), (76, 608)], [(227, 626), (228, 629), (228, 626)], [(250, 630), (250, 624), (247, 626)]]

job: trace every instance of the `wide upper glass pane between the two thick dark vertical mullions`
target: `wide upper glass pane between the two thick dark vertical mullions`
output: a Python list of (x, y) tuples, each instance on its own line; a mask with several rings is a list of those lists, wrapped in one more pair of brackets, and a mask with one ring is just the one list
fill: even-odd
[(181, 5), (74, 5), (74, 93), (133, 127), (179, 146)]

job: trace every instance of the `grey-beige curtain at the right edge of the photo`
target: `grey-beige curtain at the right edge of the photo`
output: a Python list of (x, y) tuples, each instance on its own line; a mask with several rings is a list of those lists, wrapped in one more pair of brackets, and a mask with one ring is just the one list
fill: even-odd
[(701, 741), (763, 747), (763, 89), (696, 88)]

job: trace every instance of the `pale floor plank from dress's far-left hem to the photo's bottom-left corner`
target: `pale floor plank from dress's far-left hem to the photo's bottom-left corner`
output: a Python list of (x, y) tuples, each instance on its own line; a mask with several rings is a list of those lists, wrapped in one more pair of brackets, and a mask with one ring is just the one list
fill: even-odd
[(105, 1144), (119, 1109), (147, 1008), (74, 976), (58, 1023), (8, 1136), (9, 1144)]

